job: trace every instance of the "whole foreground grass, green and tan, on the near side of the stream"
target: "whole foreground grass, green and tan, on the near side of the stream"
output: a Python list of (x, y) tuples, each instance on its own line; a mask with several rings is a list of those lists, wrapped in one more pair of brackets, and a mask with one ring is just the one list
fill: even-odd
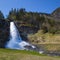
[(42, 55), (32, 51), (0, 49), (0, 60), (60, 60), (60, 57)]

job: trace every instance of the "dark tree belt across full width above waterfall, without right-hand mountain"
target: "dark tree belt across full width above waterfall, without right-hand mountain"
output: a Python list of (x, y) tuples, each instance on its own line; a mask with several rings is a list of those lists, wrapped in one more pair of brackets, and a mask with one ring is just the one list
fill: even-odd
[[(36, 27), (39, 30), (43, 30), (43, 33), (60, 33), (60, 22), (56, 22), (54, 19), (47, 18), (48, 14), (40, 14), (38, 12), (27, 12), (24, 8), (11, 9), (7, 15), (0, 11), (0, 19), (9, 19), (22, 23), (24, 26)], [(50, 15), (49, 15), (50, 16)]]

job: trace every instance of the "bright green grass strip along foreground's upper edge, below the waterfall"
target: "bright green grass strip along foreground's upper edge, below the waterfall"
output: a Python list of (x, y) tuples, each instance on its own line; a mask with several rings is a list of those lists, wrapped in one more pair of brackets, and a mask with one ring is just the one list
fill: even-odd
[(1, 52), (7, 52), (7, 53), (23, 53), (23, 54), (32, 54), (32, 55), (43, 55), (39, 54), (38, 52), (35, 51), (27, 51), (27, 50), (14, 50), (14, 49), (0, 49)]

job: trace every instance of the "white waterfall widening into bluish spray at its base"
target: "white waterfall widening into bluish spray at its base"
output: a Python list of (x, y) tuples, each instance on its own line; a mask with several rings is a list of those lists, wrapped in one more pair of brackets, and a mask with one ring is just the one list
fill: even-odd
[(19, 31), (14, 22), (10, 22), (10, 40), (7, 42), (6, 48), (24, 50), (26, 49), (25, 46), (31, 46), (32, 48), (35, 48), (35, 46), (21, 39)]

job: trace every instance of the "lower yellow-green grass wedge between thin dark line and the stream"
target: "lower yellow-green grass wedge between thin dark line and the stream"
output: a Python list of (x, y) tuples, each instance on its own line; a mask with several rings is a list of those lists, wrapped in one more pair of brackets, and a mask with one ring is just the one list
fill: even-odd
[(45, 51), (60, 52), (60, 44), (38, 44), (39, 47), (45, 49)]

